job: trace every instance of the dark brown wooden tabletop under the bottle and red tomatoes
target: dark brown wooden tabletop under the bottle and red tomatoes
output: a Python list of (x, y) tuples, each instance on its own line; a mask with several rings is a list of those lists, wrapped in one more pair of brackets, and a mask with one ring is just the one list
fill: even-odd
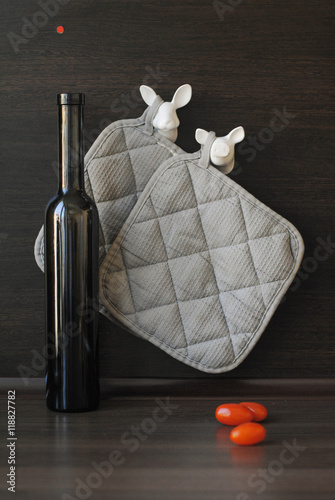
[[(149, 382), (104, 381), (98, 411), (62, 414), (45, 407), (43, 381), (27, 389), (3, 381), (1, 498), (12, 498), (4, 441), (7, 389), (17, 387), (13, 498), (334, 499), (334, 381), (231, 380), (211, 384), (207, 397), (203, 381)], [(214, 412), (250, 398), (268, 408), (267, 437), (239, 447)]]

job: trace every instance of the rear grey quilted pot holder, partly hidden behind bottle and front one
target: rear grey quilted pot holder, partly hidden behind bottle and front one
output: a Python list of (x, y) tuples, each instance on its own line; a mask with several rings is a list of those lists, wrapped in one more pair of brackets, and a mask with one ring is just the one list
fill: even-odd
[[(85, 156), (85, 189), (95, 201), (100, 219), (100, 263), (155, 170), (172, 155), (185, 153), (153, 129), (163, 102), (157, 96), (141, 117), (111, 123)], [(34, 254), (43, 271), (43, 226)]]

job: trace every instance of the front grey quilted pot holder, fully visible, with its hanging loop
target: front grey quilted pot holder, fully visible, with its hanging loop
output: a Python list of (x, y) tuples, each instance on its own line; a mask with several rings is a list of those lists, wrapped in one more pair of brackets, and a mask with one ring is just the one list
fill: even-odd
[(250, 353), (304, 251), (290, 222), (210, 165), (214, 140), (160, 165), (100, 267), (113, 316), (208, 373)]

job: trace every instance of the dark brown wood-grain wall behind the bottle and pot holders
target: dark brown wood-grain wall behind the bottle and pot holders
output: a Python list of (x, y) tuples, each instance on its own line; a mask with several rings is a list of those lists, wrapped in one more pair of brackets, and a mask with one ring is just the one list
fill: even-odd
[[(36, 369), (44, 343), (43, 275), (33, 246), (57, 184), (55, 95), (86, 93), (89, 146), (109, 122), (142, 113), (142, 83), (167, 100), (179, 85), (193, 86), (191, 103), (179, 112), (177, 143), (186, 151), (198, 149), (197, 127), (224, 135), (243, 125), (234, 179), (305, 240), (296, 289), (250, 356), (221, 377), (334, 376), (335, 252), (317, 248), (321, 240), (335, 242), (335, 3), (41, 3), (49, 9), (44, 17), (35, 0), (1, 4), (0, 376), (19, 376), (19, 365), (32, 364), (43, 375)], [(272, 132), (278, 113), (287, 118)], [(104, 377), (208, 377), (104, 317), (100, 333)]]

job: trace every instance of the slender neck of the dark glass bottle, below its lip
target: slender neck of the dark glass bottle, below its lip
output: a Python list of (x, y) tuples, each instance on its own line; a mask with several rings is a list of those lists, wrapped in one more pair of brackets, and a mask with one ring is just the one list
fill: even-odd
[(84, 190), (83, 105), (60, 104), (59, 118), (59, 190)]

